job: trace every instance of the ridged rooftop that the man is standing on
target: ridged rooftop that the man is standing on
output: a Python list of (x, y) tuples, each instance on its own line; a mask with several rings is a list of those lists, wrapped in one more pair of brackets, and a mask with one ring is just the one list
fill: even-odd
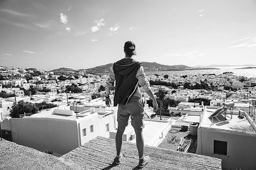
[[(138, 152), (134, 143), (123, 142), (124, 163), (114, 166), (115, 140), (97, 137), (72, 150), (61, 158), (70, 160), (83, 169), (136, 169)], [(221, 169), (221, 159), (175, 152), (164, 148), (145, 146), (145, 154), (151, 158), (144, 169)]]

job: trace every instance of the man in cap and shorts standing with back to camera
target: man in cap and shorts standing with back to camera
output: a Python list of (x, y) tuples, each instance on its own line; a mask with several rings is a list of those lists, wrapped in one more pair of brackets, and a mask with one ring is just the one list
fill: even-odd
[(132, 41), (125, 42), (124, 52), (124, 59), (118, 60), (113, 64), (108, 80), (106, 81), (106, 105), (110, 106), (111, 104), (109, 88), (114, 87), (114, 81), (114, 106), (118, 105), (118, 129), (116, 132), (116, 157), (114, 162), (115, 164), (120, 164), (124, 157), (121, 153), (122, 135), (131, 116), (131, 124), (136, 134), (136, 146), (139, 153), (138, 167), (142, 168), (148, 164), (150, 157), (144, 155), (144, 139), (142, 133), (144, 127), (144, 104), (139, 85), (141, 85), (143, 91), (153, 100), (154, 110), (157, 110), (158, 105), (156, 98), (150, 90), (149, 82), (145, 77), (141, 62), (132, 59), (132, 56), (136, 55), (135, 44)]

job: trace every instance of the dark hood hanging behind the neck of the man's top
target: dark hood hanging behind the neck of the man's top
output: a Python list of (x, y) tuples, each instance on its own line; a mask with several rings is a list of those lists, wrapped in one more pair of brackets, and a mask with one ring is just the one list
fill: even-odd
[(116, 62), (114, 63), (116, 73), (121, 74), (123, 76), (130, 74), (134, 70), (138, 70), (138, 67), (140, 66), (141, 62), (133, 62), (132, 64), (126, 65), (117, 64)]

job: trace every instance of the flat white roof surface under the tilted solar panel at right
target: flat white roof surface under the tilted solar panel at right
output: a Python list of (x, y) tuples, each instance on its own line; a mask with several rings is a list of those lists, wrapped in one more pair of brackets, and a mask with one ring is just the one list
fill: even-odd
[(248, 134), (256, 136), (256, 132), (253, 130), (252, 125), (248, 122), (246, 117), (239, 118), (238, 115), (232, 115), (232, 118), (229, 118), (231, 115), (227, 114), (227, 120), (219, 122), (214, 121), (214, 118), (209, 118), (212, 113), (212, 111), (204, 111), (200, 127), (205, 127), (212, 131), (222, 131), (232, 134)]

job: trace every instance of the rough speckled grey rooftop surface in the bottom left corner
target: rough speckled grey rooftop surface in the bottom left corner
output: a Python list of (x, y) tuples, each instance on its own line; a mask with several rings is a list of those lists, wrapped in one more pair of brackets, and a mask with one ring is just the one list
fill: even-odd
[(0, 169), (81, 169), (64, 160), (33, 148), (0, 141)]

